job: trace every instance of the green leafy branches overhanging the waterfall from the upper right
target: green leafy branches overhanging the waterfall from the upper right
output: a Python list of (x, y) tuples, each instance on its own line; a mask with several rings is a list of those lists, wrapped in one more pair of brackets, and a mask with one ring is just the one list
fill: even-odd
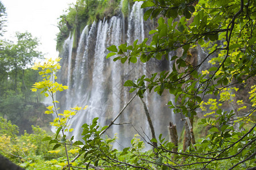
[[(158, 18), (158, 27), (149, 32), (152, 41), (138, 40), (132, 45), (112, 45), (107, 58), (122, 63), (148, 62), (151, 58), (174, 61), (172, 71), (141, 76), (136, 82), (128, 80), (125, 86), (137, 90), (143, 97), (148, 89), (159, 95), (164, 90), (175, 95), (174, 111), (186, 116), (195, 115), (205, 95), (217, 95), (230, 83), (241, 83), (256, 74), (255, 59), (255, 1), (145, 1), (148, 7), (144, 20)], [(162, 17), (161, 17), (162, 16)], [(199, 63), (193, 62), (192, 50), (207, 52)], [(217, 57), (216, 57), (217, 56)], [(200, 68), (207, 61), (213, 64), (209, 74)], [(181, 99), (181, 100), (179, 100)], [(178, 102), (179, 101), (179, 102)]]

